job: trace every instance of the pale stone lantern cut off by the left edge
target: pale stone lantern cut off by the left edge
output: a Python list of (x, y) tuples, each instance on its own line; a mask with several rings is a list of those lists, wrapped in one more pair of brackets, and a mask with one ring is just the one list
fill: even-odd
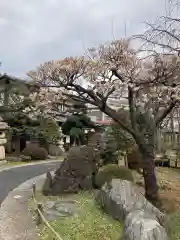
[(5, 148), (4, 144), (7, 142), (5, 130), (8, 128), (8, 125), (2, 117), (0, 117), (0, 161), (5, 159)]

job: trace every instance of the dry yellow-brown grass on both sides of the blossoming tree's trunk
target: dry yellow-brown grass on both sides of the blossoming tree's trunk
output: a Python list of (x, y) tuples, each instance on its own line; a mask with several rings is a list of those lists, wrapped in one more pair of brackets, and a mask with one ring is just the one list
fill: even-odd
[[(143, 178), (133, 172), (134, 179), (144, 193)], [(171, 240), (180, 240), (180, 169), (156, 168), (159, 195), (168, 215)]]

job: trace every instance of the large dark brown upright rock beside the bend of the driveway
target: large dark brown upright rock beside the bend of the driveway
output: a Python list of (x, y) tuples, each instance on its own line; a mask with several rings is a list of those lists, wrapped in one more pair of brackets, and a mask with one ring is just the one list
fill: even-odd
[[(56, 170), (49, 192), (58, 195), (63, 192), (78, 192), (91, 189), (92, 179), (97, 172), (97, 151), (93, 146), (73, 146), (61, 166)], [(49, 181), (46, 179), (48, 185)]]

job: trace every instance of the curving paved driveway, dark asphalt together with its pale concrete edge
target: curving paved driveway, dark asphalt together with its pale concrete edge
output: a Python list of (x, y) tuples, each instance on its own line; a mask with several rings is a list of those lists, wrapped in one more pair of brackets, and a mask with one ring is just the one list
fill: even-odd
[(39, 239), (35, 223), (28, 213), (32, 183), (39, 181), (42, 186), (44, 173), (54, 171), (60, 164), (61, 161), (56, 160), (5, 170), (0, 167), (0, 240)]

